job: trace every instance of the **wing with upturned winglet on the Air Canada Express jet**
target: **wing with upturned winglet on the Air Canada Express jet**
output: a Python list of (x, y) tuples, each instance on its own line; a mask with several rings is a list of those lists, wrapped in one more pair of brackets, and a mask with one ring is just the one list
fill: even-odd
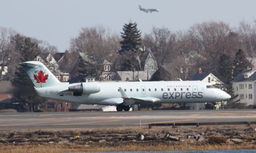
[(124, 104), (125, 106), (127, 105), (131, 105), (131, 104), (140, 104), (140, 102), (156, 102), (160, 99), (158, 98), (154, 98), (154, 97), (129, 97), (126, 95), (126, 93), (124, 92), (124, 90), (122, 88), (120, 88), (120, 93), (121, 93), (121, 97), (123, 98), (124, 102), (122, 104)]

